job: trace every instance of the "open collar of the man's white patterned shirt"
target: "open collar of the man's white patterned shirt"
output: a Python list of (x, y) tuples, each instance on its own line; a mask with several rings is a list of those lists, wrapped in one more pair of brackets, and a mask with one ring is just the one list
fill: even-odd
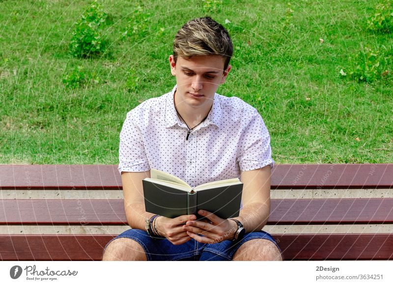
[[(171, 92), (167, 94), (166, 98), (166, 108), (165, 108), (165, 127), (169, 128), (174, 126), (175, 124), (180, 125), (181, 121), (177, 116), (177, 112), (175, 109), (173, 94), (176, 91), (177, 85), (175, 85)], [(220, 128), (221, 126), (221, 105), (219, 95), (217, 93), (214, 94), (213, 106), (207, 115), (205, 121), (200, 125), (200, 127), (207, 127), (209, 124), (214, 124)]]

